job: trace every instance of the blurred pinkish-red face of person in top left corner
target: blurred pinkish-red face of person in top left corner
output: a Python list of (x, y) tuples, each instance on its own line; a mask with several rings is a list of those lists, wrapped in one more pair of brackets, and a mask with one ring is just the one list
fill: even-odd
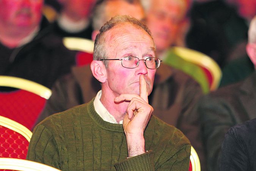
[(43, 0), (0, 0), (0, 22), (6, 27), (33, 27), (40, 23)]

